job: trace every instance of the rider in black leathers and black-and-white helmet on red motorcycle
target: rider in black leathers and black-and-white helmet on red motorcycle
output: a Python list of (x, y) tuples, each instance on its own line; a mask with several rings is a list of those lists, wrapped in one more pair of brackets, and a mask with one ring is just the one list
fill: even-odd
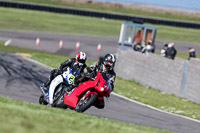
[[(100, 72), (105, 74), (111, 81), (111, 92), (114, 90), (114, 82), (116, 78), (116, 73), (114, 72), (114, 66), (116, 62), (116, 57), (113, 54), (106, 54), (103, 58), (103, 61), (94, 63), (93, 65), (87, 67), (85, 76), (90, 78), (95, 78), (96, 73)], [(104, 100), (95, 104), (95, 107), (103, 109), (105, 106)]]

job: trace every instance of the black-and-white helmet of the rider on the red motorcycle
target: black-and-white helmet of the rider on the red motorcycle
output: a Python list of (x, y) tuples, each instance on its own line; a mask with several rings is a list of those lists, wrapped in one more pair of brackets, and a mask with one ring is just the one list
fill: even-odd
[(106, 54), (104, 56), (103, 64), (109, 69), (112, 70), (115, 66), (116, 58), (113, 54)]

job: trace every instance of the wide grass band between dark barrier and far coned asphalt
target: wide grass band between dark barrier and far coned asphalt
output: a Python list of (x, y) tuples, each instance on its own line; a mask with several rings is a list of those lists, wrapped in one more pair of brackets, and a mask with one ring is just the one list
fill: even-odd
[[(122, 21), (0, 8), (1, 30), (78, 33), (119, 37)], [(200, 43), (200, 30), (156, 25), (156, 40)]]

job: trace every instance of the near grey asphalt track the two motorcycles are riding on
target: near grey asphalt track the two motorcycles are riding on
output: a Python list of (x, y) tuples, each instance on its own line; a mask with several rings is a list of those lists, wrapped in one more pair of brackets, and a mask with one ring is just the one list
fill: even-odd
[[(50, 70), (22, 56), (0, 52), (0, 95), (38, 103), (39, 85), (47, 79)], [(181, 133), (200, 131), (199, 122), (156, 111), (116, 95), (105, 101), (105, 109), (92, 107), (86, 113)]]

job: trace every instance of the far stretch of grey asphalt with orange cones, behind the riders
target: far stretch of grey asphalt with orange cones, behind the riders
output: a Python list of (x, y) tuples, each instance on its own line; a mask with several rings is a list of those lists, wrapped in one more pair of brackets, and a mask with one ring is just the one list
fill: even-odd
[[(36, 46), (36, 38), (40, 38), (40, 45)], [(78, 51), (85, 51), (90, 59), (98, 59), (107, 53), (116, 53), (118, 47), (118, 37), (99, 37), (78, 34), (57, 34), (39, 33), (22, 31), (3, 31), (0, 30), (0, 40), (9, 40), (10, 45), (44, 50), (61, 55), (74, 56)], [(59, 49), (59, 41), (63, 40), (63, 48)], [(80, 49), (75, 49), (76, 42), (80, 41)], [(101, 43), (102, 49), (97, 52), (97, 45)], [(166, 42), (156, 41), (156, 51), (160, 51)], [(188, 52), (188, 47), (193, 47), (197, 52), (200, 51), (200, 44), (176, 42), (178, 52)]]

